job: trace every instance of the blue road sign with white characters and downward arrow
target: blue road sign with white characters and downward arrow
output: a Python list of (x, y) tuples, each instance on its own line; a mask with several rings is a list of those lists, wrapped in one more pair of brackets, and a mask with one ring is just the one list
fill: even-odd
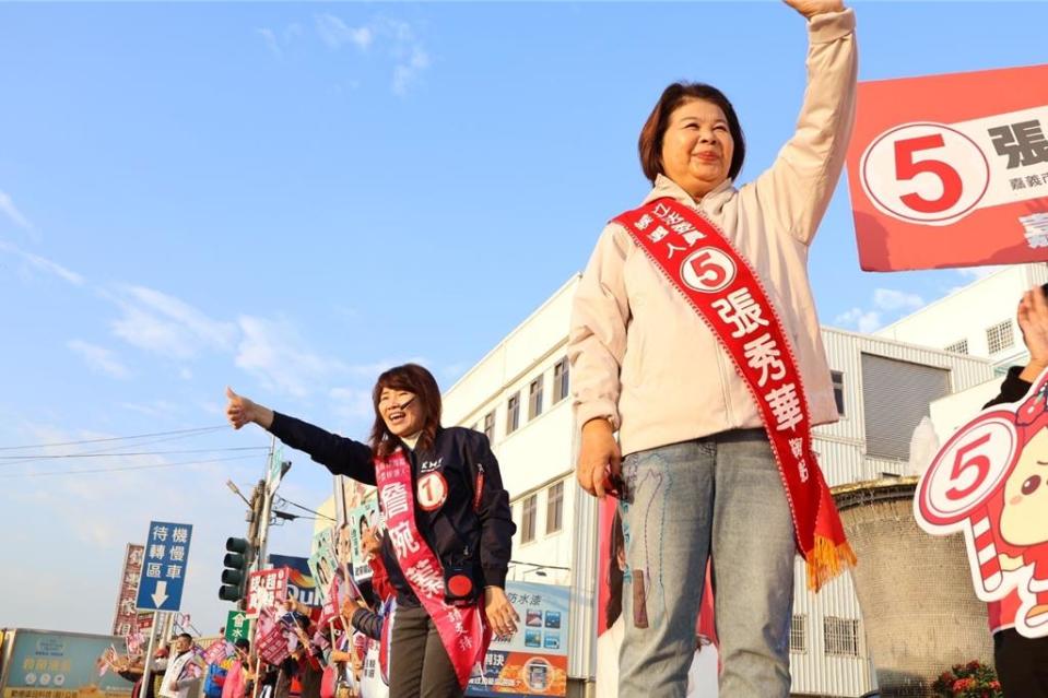
[(150, 522), (136, 602), (139, 611), (179, 610), (191, 537), (189, 523)]

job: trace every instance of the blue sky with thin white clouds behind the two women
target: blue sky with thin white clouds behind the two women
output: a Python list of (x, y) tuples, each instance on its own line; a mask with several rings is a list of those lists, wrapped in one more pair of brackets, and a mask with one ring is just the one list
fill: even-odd
[[(1045, 60), (1045, 3), (855, 7), (862, 80)], [(668, 82), (732, 98), (741, 181), (769, 165), (805, 46), (775, 2), (0, 4), (0, 448), (221, 426), (227, 383), (363, 437), (382, 367), (449, 387), (643, 198), (636, 138)], [(863, 330), (979, 273), (861, 272), (843, 184), (811, 272), (823, 321)], [(222, 449), (267, 443), (0, 461), (0, 626), (105, 631), (152, 518), (197, 527), (184, 610), (214, 631), (245, 529), (223, 483), (263, 466)], [(330, 481), (294, 460), (282, 492), (315, 506)]]

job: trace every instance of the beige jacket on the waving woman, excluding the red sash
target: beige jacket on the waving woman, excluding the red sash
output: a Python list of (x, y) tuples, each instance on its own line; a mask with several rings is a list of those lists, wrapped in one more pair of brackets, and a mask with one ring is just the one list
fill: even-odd
[[(815, 424), (836, 422), (833, 385), (808, 280), (808, 250), (844, 167), (855, 114), (851, 10), (809, 22), (808, 88), (797, 132), (770, 169), (702, 201), (660, 176), (661, 197), (700, 211), (756, 270), (793, 342)], [(597, 242), (575, 296), (568, 339), (578, 424), (604, 417), (623, 454), (761, 427), (731, 358), (619, 224)]]

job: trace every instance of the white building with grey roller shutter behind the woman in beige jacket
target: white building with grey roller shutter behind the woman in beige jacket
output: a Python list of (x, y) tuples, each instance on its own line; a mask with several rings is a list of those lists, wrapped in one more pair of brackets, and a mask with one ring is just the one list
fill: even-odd
[[(445, 394), (445, 423), (486, 431), (498, 458), (518, 525), (510, 578), (574, 589), (572, 695), (586, 693), (594, 674), (598, 577), (594, 500), (574, 476), (578, 429), (565, 354), (578, 279), (554, 293)], [(831, 486), (903, 473), (910, 435), (929, 403), (993, 377), (990, 360), (941, 348), (828, 328), (823, 340), (841, 413), (837, 424), (816, 429), (815, 450)], [(869, 691), (870, 658), (850, 577), (815, 596), (804, 587), (798, 559), (796, 580), (793, 695)]]

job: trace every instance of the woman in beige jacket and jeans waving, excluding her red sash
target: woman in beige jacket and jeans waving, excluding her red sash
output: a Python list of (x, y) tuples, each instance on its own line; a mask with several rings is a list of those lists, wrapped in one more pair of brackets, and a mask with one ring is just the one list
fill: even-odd
[[(808, 20), (808, 90), (770, 169), (734, 188), (742, 130), (725, 95), (702, 84), (663, 92), (640, 156), (655, 186), (646, 202), (672, 197), (699, 211), (754, 268), (792, 342), (812, 422), (826, 424), (837, 411), (808, 251), (851, 129), (855, 15), (841, 0), (786, 2)], [(568, 354), (579, 484), (603, 497), (620, 473), (625, 483), (620, 696), (684, 696), (707, 557), (720, 695), (787, 696), (793, 523), (761, 414), (717, 339), (617, 223), (582, 275)]]

